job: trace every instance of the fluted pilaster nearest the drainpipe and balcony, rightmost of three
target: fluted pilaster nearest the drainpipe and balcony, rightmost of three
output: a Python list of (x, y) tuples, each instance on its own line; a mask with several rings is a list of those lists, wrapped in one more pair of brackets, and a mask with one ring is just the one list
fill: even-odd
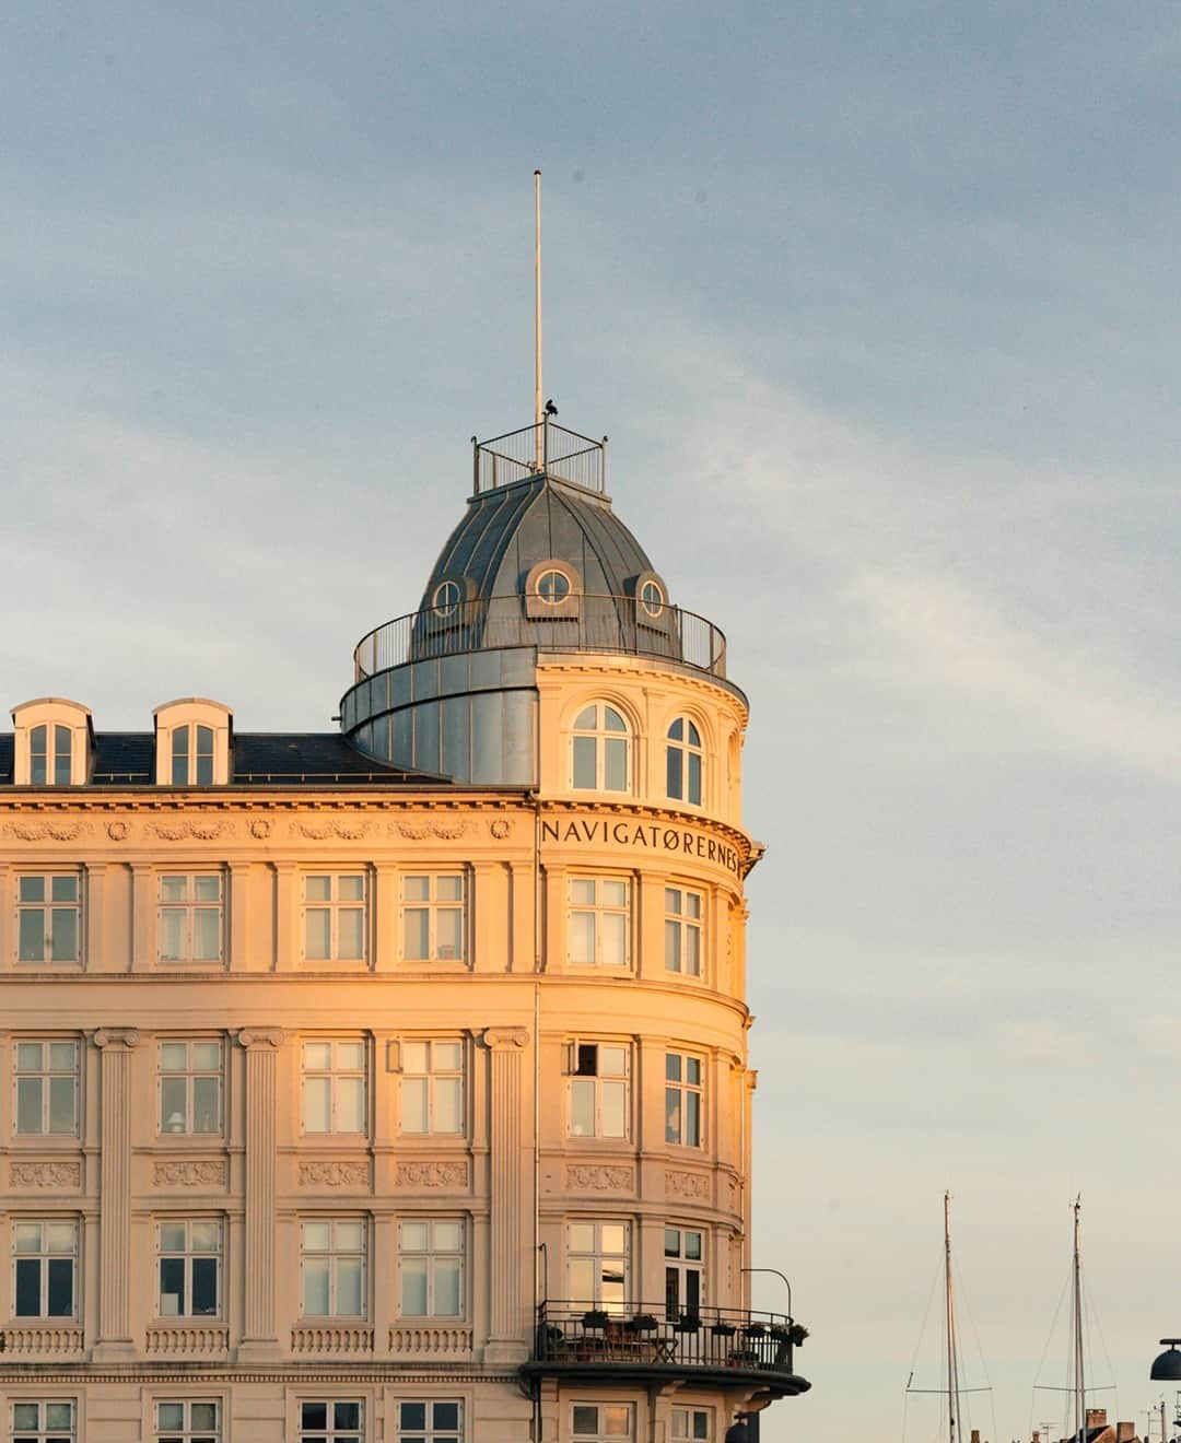
[[(528, 1354), (523, 1287), (531, 1290), (533, 1258), (523, 1238), (526, 1206), (533, 1188), (526, 1177), (521, 1147), (521, 1071), (528, 1046), (524, 1029), (489, 1029), (484, 1045), (491, 1056), (491, 1319), (487, 1362), (523, 1362)], [(528, 1263), (523, 1267), (523, 1260)]]

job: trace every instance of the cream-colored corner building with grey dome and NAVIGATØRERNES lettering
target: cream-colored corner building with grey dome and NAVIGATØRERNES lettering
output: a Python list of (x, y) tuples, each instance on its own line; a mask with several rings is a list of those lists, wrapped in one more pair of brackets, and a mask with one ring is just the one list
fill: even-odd
[(746, 700), (544, 440), (476, 446), (339, 734), (13, 709), (6, 1437), (722, 1443), (807, 1387), (746, 1307)]

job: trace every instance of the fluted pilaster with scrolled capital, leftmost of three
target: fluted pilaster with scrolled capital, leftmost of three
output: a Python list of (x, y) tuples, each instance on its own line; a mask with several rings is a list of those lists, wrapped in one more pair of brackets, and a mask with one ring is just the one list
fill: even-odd
[(136, 1354), (131, 1342), (131, 1049), (140, 1035), (131, 1027), (100, 1027), (100, 1229), (98, 1339), (95, 1362), (118, 1362)]

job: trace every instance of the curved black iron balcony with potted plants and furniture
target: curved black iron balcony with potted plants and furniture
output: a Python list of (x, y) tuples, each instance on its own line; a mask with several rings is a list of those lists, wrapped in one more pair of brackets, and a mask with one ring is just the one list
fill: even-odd
[(670, 1317), (663, 1303), (605, 1313), (552, 1300), (539, 1309), (533, 1356), (523, 1371), (533, 1378), (680, 1381), (794, 1397), (811, 1387), (793, 1369), (804, 1336), (783, 1313), (702, 1307)]

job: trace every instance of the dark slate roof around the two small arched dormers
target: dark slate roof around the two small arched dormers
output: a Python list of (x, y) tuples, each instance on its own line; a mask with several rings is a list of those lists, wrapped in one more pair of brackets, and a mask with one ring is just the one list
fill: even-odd
[[(235, 732), (234, 786), (398, 786), (439, 785), (450, 779), (413, 772), (364, 756), (336, 732)], [(156, 737), (152, 732), (98, 732), (94, 737), (92, 786), (154, 785)], [(0, 785), (13, 781), (13, 734), (0, 734)]]

